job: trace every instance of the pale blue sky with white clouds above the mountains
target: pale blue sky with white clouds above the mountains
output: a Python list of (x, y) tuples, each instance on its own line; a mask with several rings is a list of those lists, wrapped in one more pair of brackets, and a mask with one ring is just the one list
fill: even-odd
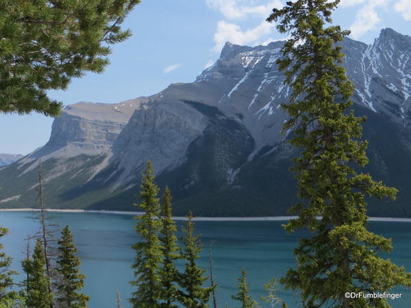
[[(191, 82), (219, 58), (223, 44), (284, 38), (264, 22), (285, 0), (142, 0), (124, 23), (134, 35), (112, 47), (110, 66), (49, 95), (64, 105), (118, 103)], [(411, 0), (342, 0), (334, 22), (371, 44), (384, 27), (411, 35)], [(0, 153), (27, 154), (49, 139), (53, 118), (0, 114)]]

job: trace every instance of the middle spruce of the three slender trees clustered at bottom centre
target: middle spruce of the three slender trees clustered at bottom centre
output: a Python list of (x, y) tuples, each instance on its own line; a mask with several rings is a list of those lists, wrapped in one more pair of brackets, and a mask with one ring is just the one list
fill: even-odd
[(175, 232), (175, 222), (171, 210), (171, 194), (168, 187), (164, 192), (162, 210), (162, 230), (160, 242), (162, 243), (163, 263), (160, 269), (162, 279), (162, 299), (165, 301), (163, 307), (177, 307), (173, 303), (177, 300), (178, 287), (176, 285), (178, 272), (175, 268), (175, 261), (179, 258), (179, 247)]

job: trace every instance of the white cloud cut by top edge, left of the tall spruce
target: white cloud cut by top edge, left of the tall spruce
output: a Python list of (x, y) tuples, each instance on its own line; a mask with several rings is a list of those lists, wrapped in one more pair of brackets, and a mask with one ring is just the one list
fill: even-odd
[[(240, 19), (247, 15), (268, 17), (273, 8), (281, 8), (279, 0), (273, 0), (266, 5), (247, 6), (242, 5), (241, 0), (206, 0), (207, 5), (218, 10), (227, 19)], [(249, 3), (249, 1), (247, 1)]]

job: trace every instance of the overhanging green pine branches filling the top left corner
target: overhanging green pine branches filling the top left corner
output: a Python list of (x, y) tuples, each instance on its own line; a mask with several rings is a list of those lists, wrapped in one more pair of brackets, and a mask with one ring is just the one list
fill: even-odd
[(101, 73), (108, 44), (128, 38), (121, 23), (139, 0), (3, 0), (0, 3), (0, 112), (58, 116), (49, 89)]

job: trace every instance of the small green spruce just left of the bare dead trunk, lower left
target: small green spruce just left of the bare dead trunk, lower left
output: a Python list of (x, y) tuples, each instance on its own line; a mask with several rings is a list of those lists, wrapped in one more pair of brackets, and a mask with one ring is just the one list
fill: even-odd
[(49, 292), (49, 278), (45, 274), (45, 253), (40, 238), (36, 241), (32, 259), (24, 259), (23, 270), (27, 274), (27, 298), (29, 308), (49, 308), (52, 305), (53, 293)]

